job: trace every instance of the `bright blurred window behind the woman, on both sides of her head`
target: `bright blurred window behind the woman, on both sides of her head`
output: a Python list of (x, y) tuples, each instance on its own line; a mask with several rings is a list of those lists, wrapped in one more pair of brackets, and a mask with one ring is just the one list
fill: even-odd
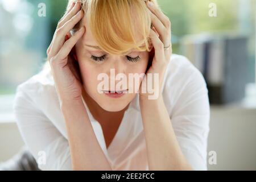
[[(256, 1), (158, 2), (171, 20), (174, 53), (184, 53), (182, 45), (187, 35), (245, 35), (245, 82), (255, 82)], [(46, 16), (38, 16), (39, 3), (46, 5)], [(15, 94), (18, 84), (40, 71), (46, 58), (46, 49), (66, 4), (67, 1), (63, 0), (0, 0), (0, 96)], [(209, 16), (210, 9), (214, 8), (212, 5), (216, 5), (217, 16)]]

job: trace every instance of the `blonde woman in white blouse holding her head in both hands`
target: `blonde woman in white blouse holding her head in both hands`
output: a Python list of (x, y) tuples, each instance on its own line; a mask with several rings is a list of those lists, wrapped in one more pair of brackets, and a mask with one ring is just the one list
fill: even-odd
[[(39, 168), (207, 169), (208, 90), (170, 40), (156, 0), (69, 0), (47, 49), (49, 67), (15, 98)], [(113, 71), (125, 78), (119, 87)], [(129, 74), (139, 81), (130, 84)]]

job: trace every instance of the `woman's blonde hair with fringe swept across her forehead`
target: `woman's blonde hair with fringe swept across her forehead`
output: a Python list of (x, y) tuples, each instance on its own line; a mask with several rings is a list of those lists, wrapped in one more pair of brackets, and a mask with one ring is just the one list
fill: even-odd
[[(76, 1), (69, 0), (67, 10)], [(159, 8), (156, 0), (151, 2)], [(80, 0), (80, 3), (88, 22), (86, 26), (90, 26), (103, 51), (117, 55), (124, 55), (130, 49), (151, 51), (151, 18), (145, 0)], [(77, 23), (72, 33), (80, 26), (81, 22)]]

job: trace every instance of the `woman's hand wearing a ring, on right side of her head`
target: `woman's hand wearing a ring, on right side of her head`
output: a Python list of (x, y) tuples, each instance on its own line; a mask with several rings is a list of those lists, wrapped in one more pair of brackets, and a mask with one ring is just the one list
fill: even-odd
[[(152, 6), (150, 6), (150, 3), (152, 4)], [(150, 10), (152, 26), (154, 26), (156, 30), (155, 31), (152, 28), (150, 29), (150, 39), (152, 46), (155, 49), (155, 55), (152, 59), (151, 67), (148, 69), (146, 76), (143, 78), (146, 79), (143, 81), (146, 81), (147, 83), (144, 85), (141, 84), (139, 98), (141, 100), (155, 100), (158, 97), (155, 98), (154, 96), (151, 96), (152, 93), (148, 93), (148, 89), (145, 88), (145, 86), (149, 86), (154, 90), (154, 92), (158, 92), (158, 96), (160, 95), (164, 73), (166, 71), (167, 64), (170, 61), (172, 55), (171, 22), (168, 16), (164, 15), (163, 12), (154, 5), (154, 3), (147, 1), (146, 5)], [(152, 85), (148, 85), (149, 75), (152, 77)], [(154, 78), (156, 78), (156, 80)], [(143, 92), (143, 90), (146, 91), (146, 93)]]

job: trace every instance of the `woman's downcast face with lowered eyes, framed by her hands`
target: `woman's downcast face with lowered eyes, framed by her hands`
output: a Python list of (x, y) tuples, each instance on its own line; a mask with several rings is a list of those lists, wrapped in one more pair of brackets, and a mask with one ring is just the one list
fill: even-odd
[[(79, 42), (77, 42), (75, 48), (77, 59), (80, 65), (82, 81), (84, 83), (84, 89), (86, 93), (88, 93), (89, 96), (92, 97), (93, 100), (102, 107), (102, 109), (107, 111), (120, 111), (124, 109), (138, 93), (137, 90), (139, 89), (139, 85), (141, 84), (142, 79), (139, 79), (137, 83), (134, 79), (129, 80), (129, 73), (137, 73), (137, 75), (139, 75), (146, 72), (148, 64), (148, 52), (138, 52), (135, 50), (130, 50), (131, 53), (127, 53), (127, 55), (110, 55), (109, 53), (106, 53), (101, 49), (97, 48), (98, 45), (93, 38), (90, 27), (86, 26), (85, 18), (82, 20), (82, 25), (85, 26), (86, 32), (79, 40)], [(97, 59), (96, 57), (101, 58)], [(131, 60), (130, 57), (137, 57), (137, 59)], [(112, 69), (111, 77), (110, 69)], [(123, 82), (124, 84), (122, 84), (122, 86), (117, 86), (118, 82), (120, 84), (121, 80), (117, 80), (117, 78), (113, 77), (113, 71), (115, 76), (117, 76), (118, 73), (123, 73), (126, 76), (127, 79), (123, 78), (123, 80), (126, 81)], [(99, 84), (102, 84), (102, 82), (104, 81), (102, 77), (101, 79), (98, 79), (98, 76), (102, 76), (102, 73), (105, 74), (103, 74), (104, 76), (108, 76), (109, 84), (106, 86), (108, 86), (109, 88), (107, 89), (102, 88), (102, 86), (100, 86), (99, 89)], [(132, 80), (134, 80), (134, 85), (131, 84)], [(111, 81), (112, 83), (114, 82), (114, 88), (110, 88)], [(118, 98), (113, 98), (110, 97), (108, 94), (99, 92), (99, 90), (117, 91), (125, 89), (128, 89), (128, 93), (125, 93)], [(130, 93), (131, 90), (133, 90), (132, 93)]]

